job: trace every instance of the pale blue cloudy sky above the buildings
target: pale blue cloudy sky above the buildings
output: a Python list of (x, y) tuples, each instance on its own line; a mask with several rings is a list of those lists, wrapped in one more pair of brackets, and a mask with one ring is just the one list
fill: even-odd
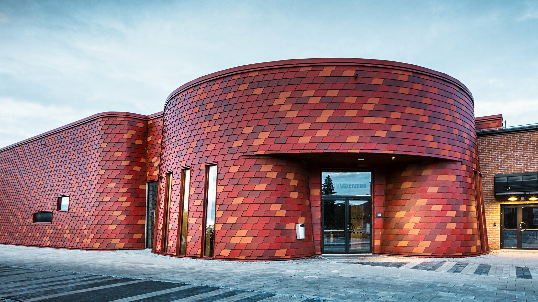
[(152, 114), (238, 65), (376, 58), (447, 73), (476, 116), (538, 123), (538, 1), (0, 0), (0, 148), (105, 111)]

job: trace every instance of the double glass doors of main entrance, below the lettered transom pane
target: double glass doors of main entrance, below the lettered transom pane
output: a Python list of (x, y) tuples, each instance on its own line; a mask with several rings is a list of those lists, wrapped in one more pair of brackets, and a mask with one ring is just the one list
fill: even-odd
[(323, 198), (323, 253), (371, 253), (368, 198)]

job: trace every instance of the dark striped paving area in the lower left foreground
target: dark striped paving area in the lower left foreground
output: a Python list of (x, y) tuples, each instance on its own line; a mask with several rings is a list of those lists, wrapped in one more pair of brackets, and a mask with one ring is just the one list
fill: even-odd
[(255, 302), (274, 296), (290, 302), (318, 300), (204, 285), (0, 266), (0, 301)]

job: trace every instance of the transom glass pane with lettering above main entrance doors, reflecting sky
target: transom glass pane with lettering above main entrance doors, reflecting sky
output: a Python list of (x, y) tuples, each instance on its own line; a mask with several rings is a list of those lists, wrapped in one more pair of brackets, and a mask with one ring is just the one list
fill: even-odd
[(371, 172), (323, 172), (322, 184), (327, 176), (334, 183), (334, 195), (370, 195)]

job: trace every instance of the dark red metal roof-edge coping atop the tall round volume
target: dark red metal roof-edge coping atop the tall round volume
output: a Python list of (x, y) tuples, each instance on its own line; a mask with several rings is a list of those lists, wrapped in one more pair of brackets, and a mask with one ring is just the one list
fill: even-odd
[(462, 82), (459, 82), (458, 79), (451, 77), (447, 75), (446, 73), (435, 71), (433, 69), (429, 69), (426, 67), (421, 67), (419, 65), (413, 65), (413, 64), (396, 62), (396, 61), (375, 60), (375, 59), (369, 59), (369, 58), (299, 58), (299, 59), (289, 59), (289, 60), (282, 60), (282, 61), (271, 61), (271, 62), (247, 64), (247, 65), (241, 65), (238, 67), (233, 67), (233, 68), (209, 73), (209, 75), (201, 76), (199, 78), (196, 78), (190, 82), (187, 82), (179, 86), (176, 90), (174, 90), (172, 93), (168, 95), (165, 101), (164, 108), (166, 109), (166, 106), (168, 105), (168, 101), (171, 98), (173, 98), (176, 94), (180, 93), (181, 91), (189, 89), (190, 87), (195, 86), (199, 83), (207, 82), (209, 80), (216, 79), (216, 78), (221, 78), (231, 73), (270, 69), (270, 68), (277, 68), (277, 67), (281, 68), (281, 67), (286, 67), (286, 66), (293, 67), (293, 66), (301, 66), (301, 65), (321, 65), (321, 64), (338, 64), (338, 65), (358, 64), (358, 65), (370, 65), (371, 67), (385, 67), (385, 68), (395, 67), (398, 69), (425, 73), (427, 75), (431, 75), (437, 78), (447, 80), (448, 82), (451, 82), (455, 84), (456, 86), (461, 87), (461, 89), (463, 89), (463, 91), (465, 91), (465, 93), (467, 93), (469, 97), (471, 98), (473, 106), (475, 105), (475, 99), (473, 98), (471, 91), (469, 91), (467, 86), (465, 86)]

